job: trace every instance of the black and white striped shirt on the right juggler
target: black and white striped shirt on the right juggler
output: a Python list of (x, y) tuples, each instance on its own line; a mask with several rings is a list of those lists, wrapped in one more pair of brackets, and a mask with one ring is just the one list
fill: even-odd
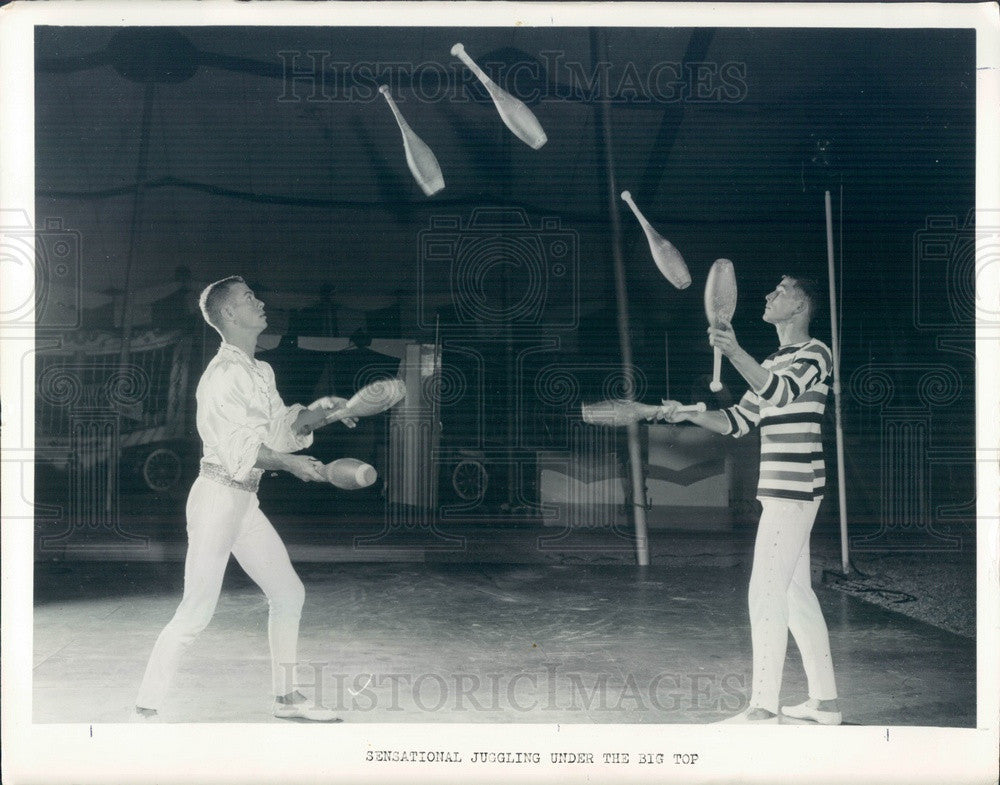
[(757, 498), (809, 501), (823, 497), (826, 468), (821, 426), (833, 368), (829, 348), (815, 338), (782, 346), (761, 366), (769, 371), (759, 390), (722, 411), (735, 438), (760, 427)]

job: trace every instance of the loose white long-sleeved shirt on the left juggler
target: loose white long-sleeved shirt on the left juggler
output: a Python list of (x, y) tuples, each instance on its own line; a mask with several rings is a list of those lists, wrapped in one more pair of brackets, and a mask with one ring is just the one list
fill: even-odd
[(311, 433), (292, 432), (305, 407), (285, 406), (271, 366), (226, 341), (202, 374), (196, 398), (202, 460), (221, 466), (237, 482), (260, 477), (254, 463), (262, 444), (281, 453), (312, 444)]

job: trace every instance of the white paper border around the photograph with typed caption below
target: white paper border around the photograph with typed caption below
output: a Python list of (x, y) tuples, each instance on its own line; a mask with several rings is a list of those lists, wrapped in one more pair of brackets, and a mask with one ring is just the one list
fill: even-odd
[[(1000, 206), (1000, 28), (997, 8), (981, 4), (519, 4), (519, 3), (240, 3), (50, 2), (0, 8), (0, 205), (25, 206), (34, 219), (32, 25), (377, 25), (407, 26), (714, 26), (714, 27), (975, 27), (977, 56), (976, 198)], [(979, 271), (985, 311), (1000, 313), (1000, 264)], [(18, 293), (0, 287), (0, 311)], [(33, 362), (24, 350), (31, 331), (3, 334), (0, 386), (4, 459), (25, 455), (33, 438)], [(413, 782), (593, 781), (676, 782), (996, 782), (998, 688), (998, 520), (1000, 378), (996, 329), (977, 328), (979, 461), (978, 729), (895, 727), (735, 728), (622, 725), (31, 725), (32, 530), (9, 525), (30, 517), (20, 477), (5, 463), (2, 479), (3, 769), (4, 782)], [(30, 455), (30, 453), (29, 453)], [(537, 766), (365, 764), (369, 748), (538, 750)], [(548, 751), (688, 752), (695, 767), (553, 766)], [(808, 760), (808, 767), (804, 763)]]

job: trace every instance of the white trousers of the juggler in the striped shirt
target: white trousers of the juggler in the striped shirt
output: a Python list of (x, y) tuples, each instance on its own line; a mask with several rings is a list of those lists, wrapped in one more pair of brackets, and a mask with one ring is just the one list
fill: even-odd
[(753, 694), (750, 706), (777, 713), (788, 631), (802, 654), (809, 697), (833, 700), (830, 637), (809, 570), (809, 534), (819, 500), (762, 499), (750, 576)]

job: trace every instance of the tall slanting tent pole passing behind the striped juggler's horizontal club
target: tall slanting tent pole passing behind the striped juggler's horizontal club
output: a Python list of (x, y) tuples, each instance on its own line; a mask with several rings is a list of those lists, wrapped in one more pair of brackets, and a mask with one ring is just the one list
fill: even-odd
[[(607, 53), (607, 42), (598, 46), (598, 33), (590, 33), (591, 53), (595, 68), (598, 53)], [(598, 73), (601, 73), (598, 69)], [(614, 156), (611, 148), (611, 112), (608, 86), (600, 85), (601, 100), (595, 105), (597, 127), (600, 130), (604, 161), (608, 169), (608, 214), (611, 218), (611, 253), (615, 265), (615, 299), (618, 306), (618, 342), (622, 353), (622, 371), (625, 375), (626, 391), (631, 399), (635, 396), (635, 378), (632, 367), (632, 342), (629, 336), (628, 289), (625, 284), (625, 262), (622, 258), (621, 218), (618, 213), (617, 183), (615, 181)], [(635, 551), (640, 567), (649, 564), (649, 540), (646, 530), (646, 482), (642, 465), (642, 448), (639, 443), (639, 426), (631, 423), (628, 433), (629, 473), (632, 479), (632, 516), (635, 521)]]

